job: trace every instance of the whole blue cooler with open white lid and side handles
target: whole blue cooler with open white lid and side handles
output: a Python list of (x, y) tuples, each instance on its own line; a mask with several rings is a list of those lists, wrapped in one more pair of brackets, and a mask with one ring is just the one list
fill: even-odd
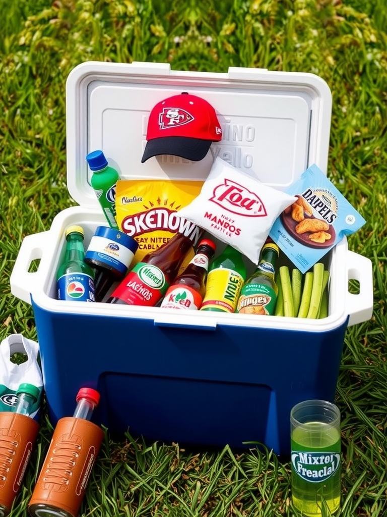
[[(153, 105), (187, 90), (216, 108), (224, 140), (200, 163), (156, 157), (141, 164)], [(329, 315), (321, 320), (60, 301), (55, 275), (66, 227), (83, 226), (86, 249), (96, 227), (106, 224), (90, 185), (91, 150), (103, 149), (121, 179), (204, 180), (220, 156), (284, 190), (312, 163), (326, 172), (330, 110), (329, 88), (313, 74), (95, 62), (73, 70), (68, 186), (79, 206), (23, 240), (10, 279), (12, 293), (34, 309), (53, 424), (72, 414), (77, 390), (90, 386), (101, 392), (96, 421), (118, 438), (128, 430), (167, 443), (257, 442), (289, 452), (292, 406), (333, 400), (346, 328), (372, 315), (371, 263), (348, 250), (345, 238), (325, 258)], [(351, 279), (360, 285), (356, 295)]]

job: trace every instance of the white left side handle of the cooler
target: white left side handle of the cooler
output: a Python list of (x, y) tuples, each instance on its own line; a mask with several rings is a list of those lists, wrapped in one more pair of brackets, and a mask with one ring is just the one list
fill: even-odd
[(43, 284), (40, 265), (37, 271), (29, 269), (34, 260), (42, 258), (44, 243), (49, 234), (50, 232), (40, 232), (24, 237), (11, 272), (11, 293), (27, 303), (31, 303), (31, 293), (35, 291), (35, 286)]

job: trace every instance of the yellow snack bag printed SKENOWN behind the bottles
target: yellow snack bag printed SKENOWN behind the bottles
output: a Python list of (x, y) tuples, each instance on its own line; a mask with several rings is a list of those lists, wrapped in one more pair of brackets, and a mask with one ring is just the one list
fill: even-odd
[(147, 253), (158, 249), (189, 221), (178, 210), (188, 205), (202, 188), (203, 181), (120, 179), (116, 187), (119, 229), (138, 242), (132, 266)]

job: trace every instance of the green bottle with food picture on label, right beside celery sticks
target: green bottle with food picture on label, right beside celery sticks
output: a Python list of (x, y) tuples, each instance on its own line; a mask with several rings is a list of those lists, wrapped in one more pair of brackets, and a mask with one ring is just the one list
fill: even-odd
[(273, 314), (278, 294), (275, 281), (278, 246), (268, 238), (260, 262), (241, 288), (236, 311), (242, 314)]

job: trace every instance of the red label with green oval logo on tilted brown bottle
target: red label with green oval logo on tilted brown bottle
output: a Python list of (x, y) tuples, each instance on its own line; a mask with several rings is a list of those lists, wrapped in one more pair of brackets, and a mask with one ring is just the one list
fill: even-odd
[(167, 291), (169, 284), (161, 269), (138, 262), (111, 294), (128, 305), (153, 307)]

